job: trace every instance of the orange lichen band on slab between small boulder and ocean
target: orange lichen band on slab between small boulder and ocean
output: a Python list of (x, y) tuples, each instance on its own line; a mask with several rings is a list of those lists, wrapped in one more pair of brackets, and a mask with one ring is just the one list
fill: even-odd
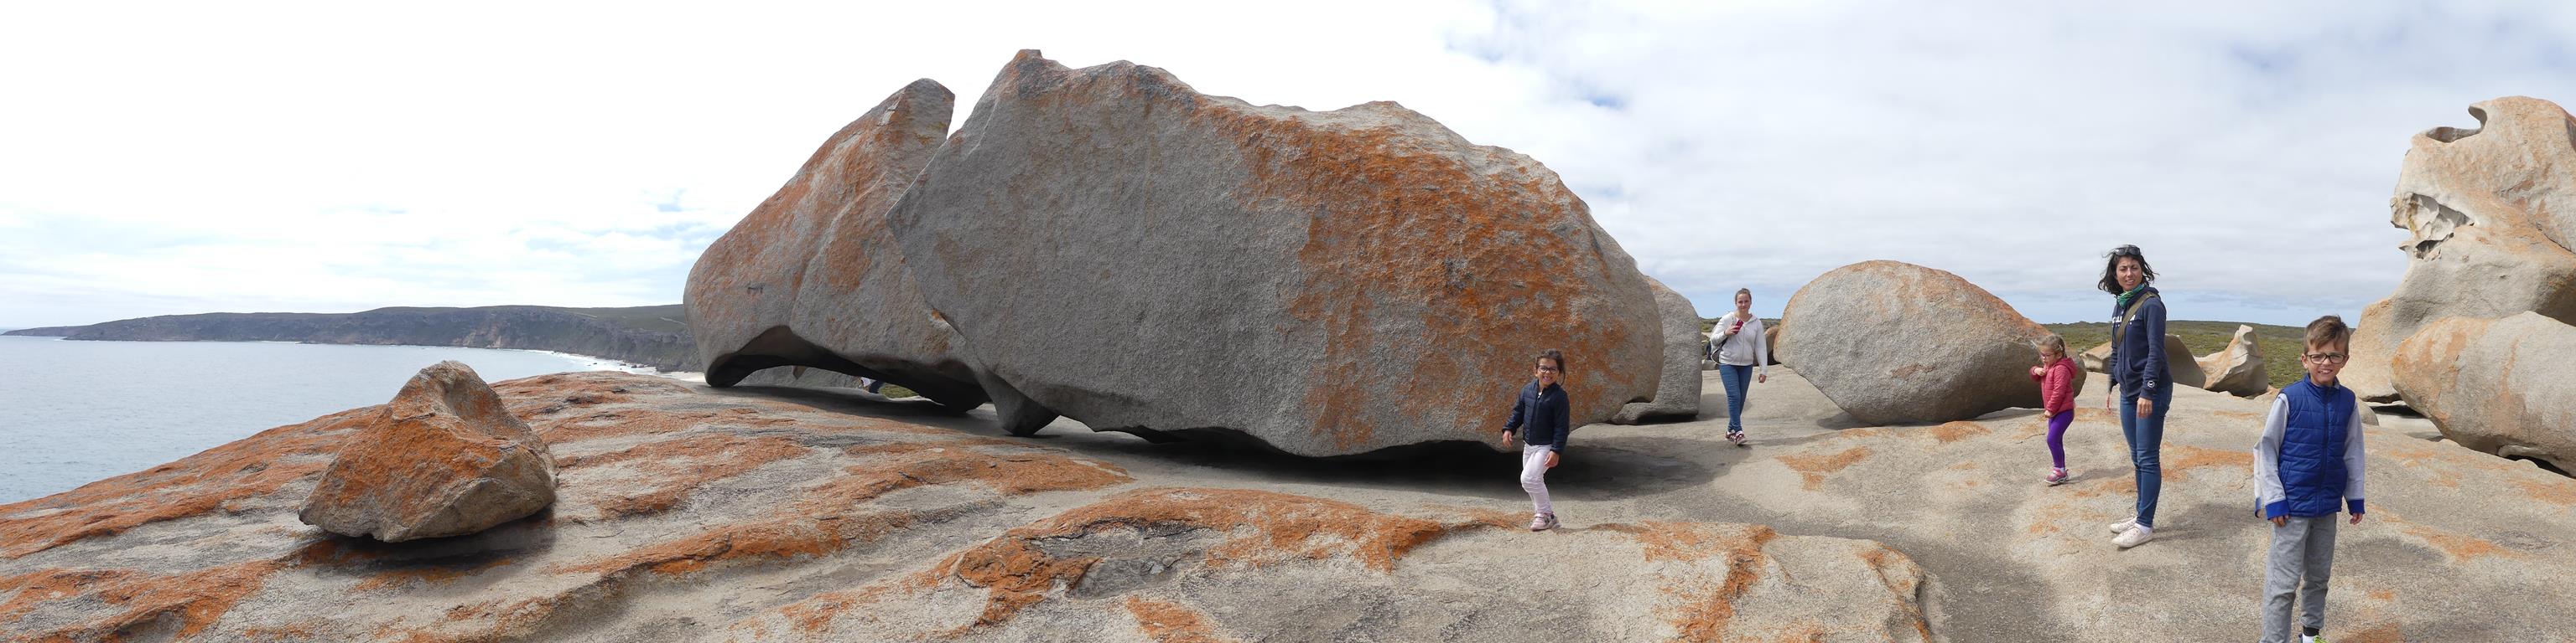
[(118, 535), (149, 522), (234, 509), (240, 502), (319, 476), (343, 437), (384, 406), (348, 409), (286, 424), (72, 491), (0, 504), (0, 558), (21, 558), (72, 540)]

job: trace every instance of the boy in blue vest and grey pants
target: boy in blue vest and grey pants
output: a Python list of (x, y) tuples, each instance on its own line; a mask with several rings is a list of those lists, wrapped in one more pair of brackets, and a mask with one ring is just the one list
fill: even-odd
[(2352, 350), (2342, 316), (2308, 322), (2308, 378), (2280, 388), (2254, 442), (2262, 517), (2272, 520), (2264, 558), (2262, 640), (2290, 643), (2290, 594), (2300, 602), (2300, 643), (2326, 628), (2326, 579), (2334, 576), (2334, 520), (2349, 509), (2362, 525), (2362, 414), (2352, 388), (2336, 386)]

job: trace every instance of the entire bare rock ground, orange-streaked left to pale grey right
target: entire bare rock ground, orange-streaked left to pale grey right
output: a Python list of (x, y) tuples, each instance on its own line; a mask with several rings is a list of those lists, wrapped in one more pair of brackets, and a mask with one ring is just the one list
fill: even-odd
[[(1703, 386), (1713, 388), (1713, 376)], [(0, 630), (67, 640), (2236, 640), (2269, 525), (2264, 401), (2182, 388), (2156, 543), (2117, 550), (2099, 391), (2040, 484), (2038, 412), (1860, 427), (1775, 368), (1726, 419), (1584, 427), (1528, 532), (1504, 453), (1314, 460), (984, 409), (629, 373), (495, 386), (562, 458), (549, 520), (381, 545), (294, 520), (381, 409), (0, 504)], [(2576, 481), (2370, 430), (2339, 640), (2576, 630)], [(1875, 540), (1875, 543), (1868, 543)], [(1558, 579), (1528, 584), (1525, 579)], [(1520, 581), (1520, 592), (1497, 592)], [(1960, 581), (1968, 579), (1968, 581)], [(2148, 581), (2141, 581), (2148, 579)], [(2154, 581), (2190, 579), (2190, 581)], [(1061, 581), (1061, 584), (1059, 584)], [(2517, 599), (2494, 599), (2512, 594)], [(2102, 597), (2120, 597), (2105, 602)], [(1520, 630), (1512, 630), (1520, 628)]]

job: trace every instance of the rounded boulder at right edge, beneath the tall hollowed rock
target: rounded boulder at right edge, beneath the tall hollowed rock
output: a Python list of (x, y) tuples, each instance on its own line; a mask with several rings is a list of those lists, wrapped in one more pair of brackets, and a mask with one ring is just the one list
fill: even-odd
[(2576, 327), (2532, 311), (2427, 324), (2396, 352), (2396, 388), (2463, 448), (2576, 468)]

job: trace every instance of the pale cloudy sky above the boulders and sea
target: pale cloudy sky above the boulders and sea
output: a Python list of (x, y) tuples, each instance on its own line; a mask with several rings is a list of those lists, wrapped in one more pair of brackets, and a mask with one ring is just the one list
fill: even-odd
[(1703, 316), (1862, 260), (2099, 322), (2360, 319), (2409, 136), (2576, 100), (2563, 3), (13, 3), (0, 327), (677, 303), (817, 144), (1018, 49), (1396, 100), (1556, 170)]

